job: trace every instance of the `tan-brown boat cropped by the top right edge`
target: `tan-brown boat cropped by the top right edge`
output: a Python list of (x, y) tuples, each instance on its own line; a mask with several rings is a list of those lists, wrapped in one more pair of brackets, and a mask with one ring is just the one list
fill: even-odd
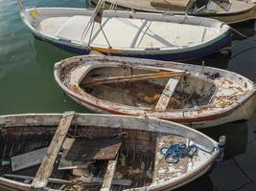
[[(91, 0), (91, 2), (97, 4), (98, 0)], [(109, 7), (158, 13), (188, 13), (189, 15), (214, 18), (226, 24), (256, 18), (256, 4), (253, 0), (105, 0), (105, 8)]]

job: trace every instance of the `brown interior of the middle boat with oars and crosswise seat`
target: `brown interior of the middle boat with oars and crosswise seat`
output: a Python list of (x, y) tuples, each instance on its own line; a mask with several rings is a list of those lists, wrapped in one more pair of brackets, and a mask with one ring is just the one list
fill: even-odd
[(157, 111), (203, 107), (217, 90), (213, 81), (184, 71), (127, 65), (94, 68), (81, 79), (80, 87), (99, 99)]

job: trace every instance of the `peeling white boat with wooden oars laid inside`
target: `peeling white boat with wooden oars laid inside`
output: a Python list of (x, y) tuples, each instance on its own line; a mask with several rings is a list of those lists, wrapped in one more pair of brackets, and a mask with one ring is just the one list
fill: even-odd
[(229, 71), (138, 58), (78, 56), (55, 78), (81, 105), (102, 113), (163, 118), (203, 128), (248, 119), (255, 85)]

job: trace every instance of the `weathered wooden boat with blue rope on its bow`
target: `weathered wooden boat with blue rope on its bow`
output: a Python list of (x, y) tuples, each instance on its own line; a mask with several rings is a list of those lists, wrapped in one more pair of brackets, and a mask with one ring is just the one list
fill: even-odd
[[(0, 124), (0, 187), (10, 190), (171, 190), (220, 154), (215, 140), (151, 117), (68, 112), (2, 116)], [(171, 155), (175, 145), (188, 150)]]

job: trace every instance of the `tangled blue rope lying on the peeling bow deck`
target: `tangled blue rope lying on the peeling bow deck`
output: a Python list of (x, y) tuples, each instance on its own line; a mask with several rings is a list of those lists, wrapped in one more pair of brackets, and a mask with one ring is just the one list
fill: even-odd
[(198, 147), (196, 144), (186, 145), (183, 142), (178, 142), (175, 144), (171, 144), (168, 148), (161, 148), (161, 154), (164, 155), (165, 161), (168, 163), (177, 163), (181, 158), (189, 157), (192, 158), (196, 155), (198, 150), (212, 155), (212, 153), (217, 149), (217, 147), (213, 147), (212, 151), (207, 151), (201, 147)]

